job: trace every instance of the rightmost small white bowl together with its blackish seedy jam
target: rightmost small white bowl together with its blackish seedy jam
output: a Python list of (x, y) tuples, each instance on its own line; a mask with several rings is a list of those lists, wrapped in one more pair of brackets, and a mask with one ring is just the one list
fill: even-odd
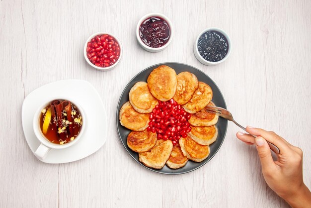
[(229, 57), (231, 49), (229, 35), (216, 27), (203, 30), (193, 46), (195, 57), (199, 62), (208, 66), (224, 62)]

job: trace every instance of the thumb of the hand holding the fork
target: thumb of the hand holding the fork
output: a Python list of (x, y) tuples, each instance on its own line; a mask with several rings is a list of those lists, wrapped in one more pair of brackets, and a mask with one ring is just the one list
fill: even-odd
[(258, 136), (255, 138), (255, 142), (262, 169), (272, 168), (274, 165), (274, 161), (267, 141), (261, 136)]

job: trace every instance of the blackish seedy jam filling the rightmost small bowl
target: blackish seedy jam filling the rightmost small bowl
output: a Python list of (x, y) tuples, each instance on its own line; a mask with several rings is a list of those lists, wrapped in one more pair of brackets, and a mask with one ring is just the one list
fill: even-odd
[(198, 40), (200, 55), (207, 61), (217, 62), (228, 53), (228, 40), (221, 32), (211, 30), (203, 33)]

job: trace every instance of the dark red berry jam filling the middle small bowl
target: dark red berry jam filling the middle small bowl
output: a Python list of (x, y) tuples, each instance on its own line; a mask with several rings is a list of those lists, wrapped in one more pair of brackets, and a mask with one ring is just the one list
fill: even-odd
[(159, 48), (165, 45), (169, 39), (169, 25), (161, 17), (150, 17), (141, 24), (139, 35), (146, 45)]

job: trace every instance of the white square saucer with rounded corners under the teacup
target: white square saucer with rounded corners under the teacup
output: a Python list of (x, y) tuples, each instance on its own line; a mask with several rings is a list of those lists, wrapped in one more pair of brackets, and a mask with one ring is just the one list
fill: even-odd
[(51, 149), (45, 163), (68, 163), (80, 160), (102, 147), (107, 137), (107, 113), (95, 88), (83, 80), (62, 80), (44, 85), (31, 92), (22, 106), (22, 125), (26, 141), (34, 153), (40, 142), (36, 138), (32, 121), (42, 101), (53, 97), (72, 97), (83, 108), (87, 118), (85, 130), (79, 141), (66, 149)]

